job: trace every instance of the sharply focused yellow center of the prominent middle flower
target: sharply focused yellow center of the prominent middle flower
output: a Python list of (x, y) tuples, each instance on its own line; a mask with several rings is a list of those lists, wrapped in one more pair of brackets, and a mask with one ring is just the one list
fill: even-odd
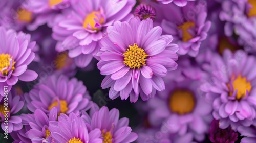
[(126, 66), (130, 68), (140, 68), (142, 65), (146, 65), (146, 57), (148, 55), (135, 43), (133, 46), (129, 45), (129, 49), (123, 53), (123, 56), (123, 63), (126, 64)]

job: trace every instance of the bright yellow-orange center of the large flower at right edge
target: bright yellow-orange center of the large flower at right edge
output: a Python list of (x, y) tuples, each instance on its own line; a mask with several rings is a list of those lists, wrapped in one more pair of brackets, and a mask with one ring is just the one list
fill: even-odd
[[(248, 90), (248, 92), (251, 91), (251, 82), (246, 80), (246, 77), (242, 77), (241, 74), (235, 79), (235, 76), (233, 75), (231, 77), (231, 84), (227, 84), (228, 88), (229, 88), (229, 96), (232, 96), (233, 92), (237, 89), (237, 100), (245, 97), (246, 94), (246, 90)], [(231, 86), (233, 88), (231, 88)], [(233, 90), (231, 90), (233, 89)]]

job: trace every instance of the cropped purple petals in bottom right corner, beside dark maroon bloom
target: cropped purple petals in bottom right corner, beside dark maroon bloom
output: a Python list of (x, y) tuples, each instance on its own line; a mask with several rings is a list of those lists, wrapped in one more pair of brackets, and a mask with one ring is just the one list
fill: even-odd
[(241, 134), (241, 136), (244, 136), (241, 140), (241, 143), (253, 143), (256, 141), (256, 127), (255, 127), (255, 121), (252, 126), (250, 127), (244, 127), (239, 126), (238, 132)]

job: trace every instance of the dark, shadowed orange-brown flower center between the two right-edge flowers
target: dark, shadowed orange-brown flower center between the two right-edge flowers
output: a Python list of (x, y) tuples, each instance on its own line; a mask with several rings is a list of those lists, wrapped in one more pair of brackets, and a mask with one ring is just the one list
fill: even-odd
[(229, 49), (230, 51), (234, 52), (239, 49), (239, 46), (231, 44), (227, 37), (222, 37), (219, 40), (218, 51), (222, 55), (225, 49)]

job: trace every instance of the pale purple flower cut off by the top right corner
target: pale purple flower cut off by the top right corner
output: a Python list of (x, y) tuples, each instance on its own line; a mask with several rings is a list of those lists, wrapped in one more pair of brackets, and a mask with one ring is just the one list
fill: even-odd
[(225, 21), (226, 36), (238, 35), (238, 42), (244, 50), (255, 52), (256, 49), (256, 3), (253, 0), (222, 1), (220, 19)]

